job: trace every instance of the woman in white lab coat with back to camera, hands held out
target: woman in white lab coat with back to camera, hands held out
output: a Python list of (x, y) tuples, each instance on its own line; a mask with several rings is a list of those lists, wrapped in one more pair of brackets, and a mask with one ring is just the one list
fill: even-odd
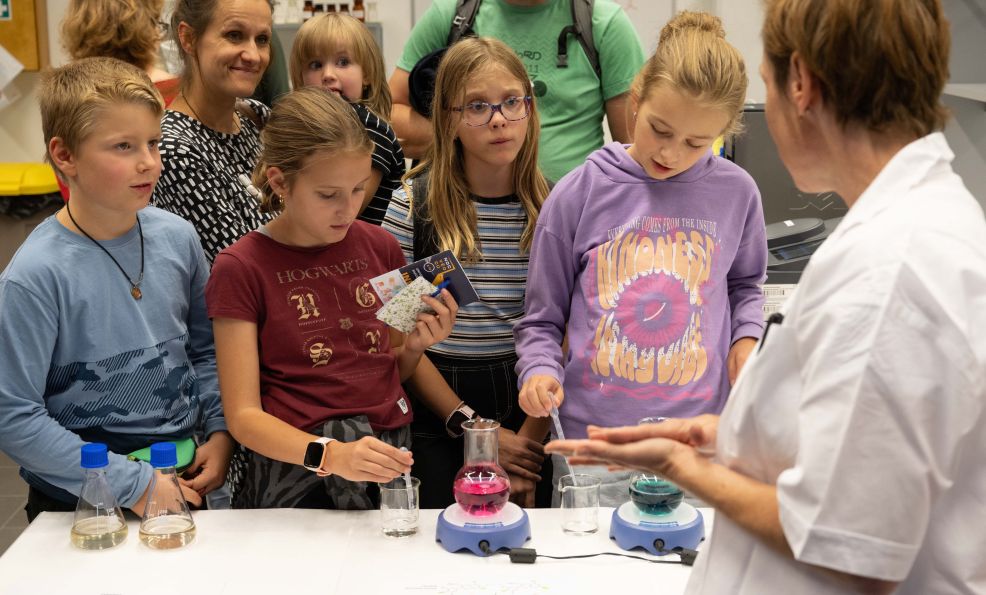
[(771, 134), (798, 187), (848, 214), (721, 417), (546, 450), (716, 508), (688, 593), (986, 593), (986, 222), (940, 132), (941, 3), (765, 12)]

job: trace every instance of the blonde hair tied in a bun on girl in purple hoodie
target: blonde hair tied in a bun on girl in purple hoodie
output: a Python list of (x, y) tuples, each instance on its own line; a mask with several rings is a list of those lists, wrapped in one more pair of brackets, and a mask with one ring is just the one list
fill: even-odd
[(724, 135), (742, 129), (746, 65), (726, 41), (719, 17), (683, 10), (661, 29), (657, 50), (637, 74), (631, 95), (642, 102), (656, 86), (693, 97), (703, 106), (729, 114)]

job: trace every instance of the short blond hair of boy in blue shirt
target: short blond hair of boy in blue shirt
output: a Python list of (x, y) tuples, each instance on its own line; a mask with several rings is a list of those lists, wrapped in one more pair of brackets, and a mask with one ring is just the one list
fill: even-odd
[[(45, 72), (38, 90), (45, 147), (57, 136), (75, 153), (103, 111), (120, 103), (146, 106), (158, 118), (164, 114), (164, 100), (147, 73), (122, 60), (83, 58)], [(45, 161), (55, 166), (47, 149)]]

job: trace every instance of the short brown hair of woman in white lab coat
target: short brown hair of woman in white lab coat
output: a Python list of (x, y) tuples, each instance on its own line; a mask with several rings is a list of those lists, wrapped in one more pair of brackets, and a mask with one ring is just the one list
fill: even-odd
[(919, 137), (944, 128), (951, 39), (940, 0), (767, 0), (765, 13), (779, 87), (797, 52), (843, 126)]

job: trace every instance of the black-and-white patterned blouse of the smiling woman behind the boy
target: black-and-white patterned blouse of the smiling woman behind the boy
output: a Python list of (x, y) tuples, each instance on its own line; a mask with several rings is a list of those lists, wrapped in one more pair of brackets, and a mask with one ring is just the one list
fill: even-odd
[[(270, 108), (252, 99), (261, 123)], [(239, 180), (248, 178), (260, 154), (260, 128), (240, 117), (236, 134), (216, 132), (181, 112), (167, 110), (161, 119), (161, 179), (154, 204), (190, 221), (211, 263), (223, 248), (273, 216), (260, 212), (259, 201)]]

